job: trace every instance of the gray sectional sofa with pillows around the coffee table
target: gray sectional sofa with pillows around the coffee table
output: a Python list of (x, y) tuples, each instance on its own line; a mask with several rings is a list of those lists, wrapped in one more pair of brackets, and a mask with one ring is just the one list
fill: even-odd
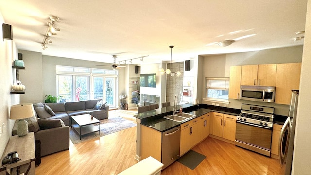
[[(36, 103), (35, 116), (27, 118), (29, 132), (35, 132), (35, 140), (41, 142), (41, 156), (69, 149), (71, 116), (90, 114), (98, 120), (108, 118), (109, 106), (94, 109), (99, 100), (66, 103)], [(69, 126), (68, 126), (69, 125)], [(17, 135), (18, 120), (12, 129)]]

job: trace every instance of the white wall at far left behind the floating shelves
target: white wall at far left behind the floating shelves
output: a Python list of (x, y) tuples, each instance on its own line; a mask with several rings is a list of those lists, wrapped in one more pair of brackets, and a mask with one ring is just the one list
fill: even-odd
[[(0, 23), (5, 23), (1, 13)], [(15, 82), (15, 69), (12, 69), (15, 59), (17, 59), (17, 48), (14, 39), (3, 41), (2, 25), (0, 25), (0, 156), (3, 155), (6, 144), (11, 137), (11, 130), (15, 122), (15, 120), (9, 119), (10, 107), (19, 104), (20, 99), (19, 94), (10, 94), (13, 82)], [(4, 128), (2, 128), (3, 126)]]

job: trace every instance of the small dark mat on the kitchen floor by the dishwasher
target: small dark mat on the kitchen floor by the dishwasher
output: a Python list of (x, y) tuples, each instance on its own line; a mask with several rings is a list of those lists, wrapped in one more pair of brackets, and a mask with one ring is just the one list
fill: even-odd
[(205, 158), (206, 156), (193, 150), (190, 150), (186, 154), (184, 154), (181, 158), (179, 158), (177, 161), (187, 166), (191, 170), (194, 170), (194, 168), (197, 167)]

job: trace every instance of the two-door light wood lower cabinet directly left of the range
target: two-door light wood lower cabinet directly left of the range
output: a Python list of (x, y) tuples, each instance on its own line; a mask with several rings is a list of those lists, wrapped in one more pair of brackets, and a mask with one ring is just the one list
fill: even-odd
[(211, 112), (211, 134), (230, 141), (235, 141), (236, 116)]

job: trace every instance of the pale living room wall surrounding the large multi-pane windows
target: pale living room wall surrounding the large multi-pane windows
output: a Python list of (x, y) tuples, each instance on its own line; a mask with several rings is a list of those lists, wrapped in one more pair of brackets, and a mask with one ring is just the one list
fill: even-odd
[[(25, 84), (26, 91), (29, 92), (22, 96), (23, 103), (43, 102), (45, 95), (56, 95), (56, 65), (89, 68), (103, 68), (96, 65), (111, 65), (102, 62), (47, 56), (25, 50), (19, 50), (19, 53), (23, 53), (25, 66), (27, 65), (24, 72), (20, 71), (20, 80)], [(110, 67), (104, 68), (110, 69)], [(126, 92), (127, 84), (124, 81), (128, 75), (125, 75), (124, 68), (118, 70), (117, 90)], [(117, 92), (118, 96), (119, 92)], [(116, 100), (118, 104), (119, 98), (116, 97)]]

